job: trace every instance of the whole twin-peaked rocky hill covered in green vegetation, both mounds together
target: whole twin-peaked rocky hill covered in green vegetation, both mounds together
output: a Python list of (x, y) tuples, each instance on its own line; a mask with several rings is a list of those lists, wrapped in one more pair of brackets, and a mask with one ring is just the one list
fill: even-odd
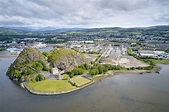
[[(47, 63), (50, 66), (47, 66)], [(87, 63), (87, 60), (83, 54), (72, 49), (55, 49), (42, 54), (35, 48), (25, 48), (11, 64), (7, 75), (16, 81), (41, 81), (44, 79), (41, 73), (52, 67), (71, 71), (85, 63)]]

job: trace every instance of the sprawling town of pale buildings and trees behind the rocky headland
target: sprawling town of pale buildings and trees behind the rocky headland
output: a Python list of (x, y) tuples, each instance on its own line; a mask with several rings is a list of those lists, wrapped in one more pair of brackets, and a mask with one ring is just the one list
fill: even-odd
[(2, 51), (0, 56), (16, 56), (25, 47), (64, 47), (78, 49), (85, 53), (103, 53), (105, 49), (109, 49), (108, 53), (117, 50), (122, 54), (125, 54), (126, 49), (131, 48), (134, 53), (140, 56), (167, 59), (169, 58), (169, 40), (167, 38), (169, 35), (167, 30), (164, 30), (165, 28), (168, 26), (29, 33), (16, 33), (17, 30), (14, 30), (15, 34), (12, 35), (11, 30), (7, 30), (7, 34), (3, 34), (2, 30), (0, 33), (0, 50)]

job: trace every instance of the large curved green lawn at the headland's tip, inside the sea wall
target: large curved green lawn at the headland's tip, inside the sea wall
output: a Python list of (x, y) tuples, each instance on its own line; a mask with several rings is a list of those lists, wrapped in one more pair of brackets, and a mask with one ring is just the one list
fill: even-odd
[(30, 88), (42, 92), (61, 92), (75, 88), (67, 80), (44, 80), (27, 84)]

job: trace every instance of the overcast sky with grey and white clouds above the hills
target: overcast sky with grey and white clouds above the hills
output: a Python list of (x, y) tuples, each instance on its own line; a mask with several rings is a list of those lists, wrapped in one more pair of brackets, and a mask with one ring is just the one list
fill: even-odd
[(169, 24), (169, 0), (0, 0), (0, 26), (142, 27)]

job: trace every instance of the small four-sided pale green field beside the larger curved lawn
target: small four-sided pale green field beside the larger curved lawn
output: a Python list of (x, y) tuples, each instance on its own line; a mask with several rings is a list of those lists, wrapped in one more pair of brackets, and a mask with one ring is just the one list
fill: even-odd
[(91, 80), (84, 78), (82, 76), (77, 76), (71, 79), (77, 86), (82, 86), (85, 85), (89, 82), (91, 82)]

